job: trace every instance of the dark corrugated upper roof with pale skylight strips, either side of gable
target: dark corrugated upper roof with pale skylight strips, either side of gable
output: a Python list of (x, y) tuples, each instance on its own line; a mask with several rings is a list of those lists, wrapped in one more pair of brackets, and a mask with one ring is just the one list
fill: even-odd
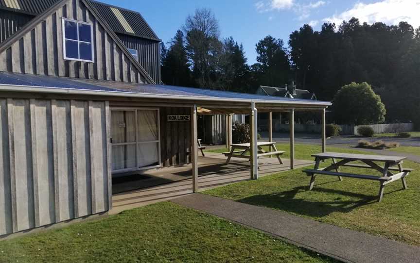
[[(0, 0), (0, 8), (14, 9), (18, 12), (36, 16), (47, 10), (57, 1), (59, 0)], [(88, 1), (98, 11), (99, 15), (105, 19), (114, 32), (160, 41), (140, 13), (102, 2)], [(118, 10), (119, 14), (116, 15), (112, 11), (112, 8)]]

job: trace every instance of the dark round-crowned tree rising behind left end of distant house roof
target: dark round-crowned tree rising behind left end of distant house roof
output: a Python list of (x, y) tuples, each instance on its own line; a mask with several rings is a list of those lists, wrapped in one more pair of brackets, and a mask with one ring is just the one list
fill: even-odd
[(283, 40), (271, 35), (257, 43), (257, 62), (262, 72), (260, 85), (279, 87), (288, 82), (290, 63), (283, 46)]

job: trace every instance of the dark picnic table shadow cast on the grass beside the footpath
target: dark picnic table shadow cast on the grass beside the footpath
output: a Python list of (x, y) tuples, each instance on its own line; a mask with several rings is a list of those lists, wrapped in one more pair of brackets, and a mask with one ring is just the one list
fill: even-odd
[(336, 197), (331, 198), (330, 195), (330, 197), (326, 197), (325, 200), (319, 201), (310, 200), (311, 193), (308, 193), (308, 195), (303, 198), (296, 197), (298, 193), (308, 192), (307, 189), (306, 186), (299, 186), (289, 191), (276, 194), (255, 195), (238, 201), (311, 217), (324, 217), (333, 212), (348, 213), (355, 208), (377, 201), (376, 196), (333, 190), (319, 187), (319, 185), (311, 190), (311, 192), (315, 192), (314, 194), (317, 195), (317, 199), (322, 199), (324, 194), (333, 194)]

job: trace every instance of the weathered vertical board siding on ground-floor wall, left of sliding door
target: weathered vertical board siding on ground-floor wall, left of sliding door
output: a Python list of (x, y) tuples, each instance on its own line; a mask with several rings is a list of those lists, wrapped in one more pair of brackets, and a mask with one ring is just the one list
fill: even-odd
[(107, 102), (0, 99), (0, 235), (105, 212)]

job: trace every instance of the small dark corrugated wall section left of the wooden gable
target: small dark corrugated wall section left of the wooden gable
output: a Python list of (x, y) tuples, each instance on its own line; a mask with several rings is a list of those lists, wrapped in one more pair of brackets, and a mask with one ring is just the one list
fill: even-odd
[(0, 9), (0, 43), (16, 33), (34, 16)]

